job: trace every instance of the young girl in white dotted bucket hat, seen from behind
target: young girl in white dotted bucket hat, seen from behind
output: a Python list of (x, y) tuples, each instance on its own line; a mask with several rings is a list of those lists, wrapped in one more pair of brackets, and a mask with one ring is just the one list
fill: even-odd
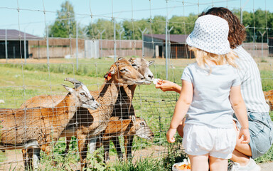
[(192, 171), (227, 170), (236, 145), (234, 111), (242, 125), (241, 143), (250, 142), (235, 64), (237, 56), (230, 50), (228, 31), (225, 19), (200, 16), (186, 40), (195, 53), (196, 63), (183, 71), (181, 95), (166, 136), (168, 142), (175, 141), (176, 128), (186, 115), (183, 147), (190, 157)]

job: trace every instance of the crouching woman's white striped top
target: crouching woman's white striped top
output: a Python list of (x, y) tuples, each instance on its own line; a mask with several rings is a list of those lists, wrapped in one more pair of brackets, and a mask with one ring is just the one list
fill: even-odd
[(247, 110), (257, 113), (268, 113), (269, 105), (267, 105), (264, 99), (257, 63), (242, 46), (238, 46), (233, 51), (239, 56), (236, 63), (239, 67), (242, 98), (245, 100)]

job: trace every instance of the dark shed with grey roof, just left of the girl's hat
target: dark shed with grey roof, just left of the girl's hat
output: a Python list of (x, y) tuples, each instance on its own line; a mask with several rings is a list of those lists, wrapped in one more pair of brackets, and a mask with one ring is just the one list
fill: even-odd
[[(169, 58), (194, 58), (193, 53), (188, 51), (186, 38), (188, 35), (170, 34), (171, 53)], [(144, 34), (144, 56), (165, 58), (166, 34)]]

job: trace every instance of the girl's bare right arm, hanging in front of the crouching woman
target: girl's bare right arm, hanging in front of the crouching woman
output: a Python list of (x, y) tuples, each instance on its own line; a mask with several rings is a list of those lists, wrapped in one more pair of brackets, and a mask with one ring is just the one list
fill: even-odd
[(232, 86), (230, 89), (230, 103), (235, 115), (239, 120), (242, 128), (240, 129), (239, 139), (244, 135), (242, 143), (250, 142), (250, 131), (248, 130), (247, 109), (245, 108), (245, 102), (242, 99), (240, 86)]

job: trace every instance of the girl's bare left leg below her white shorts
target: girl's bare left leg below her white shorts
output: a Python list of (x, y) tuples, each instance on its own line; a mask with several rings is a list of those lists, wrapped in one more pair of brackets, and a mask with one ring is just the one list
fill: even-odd
[(191, 171), (208, 171), (208, 154), (188, 155), (188, 157), (191, 160)]

